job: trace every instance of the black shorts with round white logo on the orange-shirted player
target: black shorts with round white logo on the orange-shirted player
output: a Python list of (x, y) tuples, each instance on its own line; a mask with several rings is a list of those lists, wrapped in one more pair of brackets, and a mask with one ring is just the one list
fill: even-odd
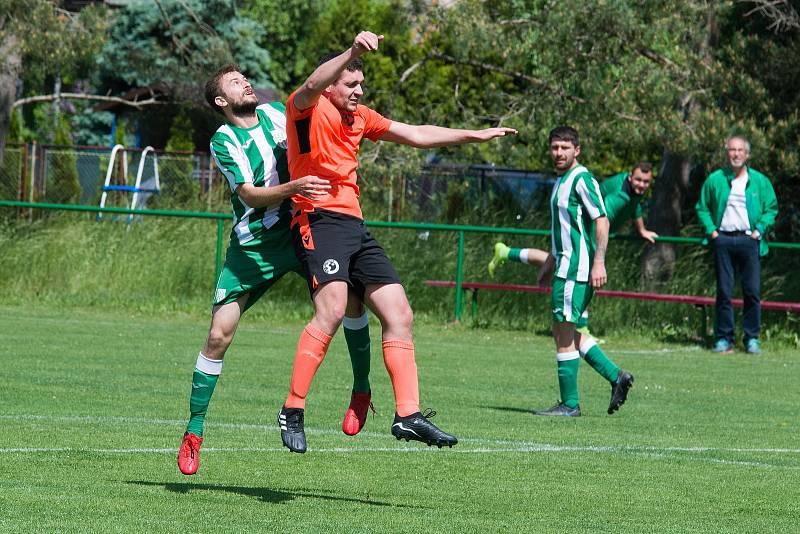
[(296, 214), (292, 241), (308, 289), (343, 280), (363, 298), (369, 284), (399, 284), (394, 266), (357, 217), (328, 210)]

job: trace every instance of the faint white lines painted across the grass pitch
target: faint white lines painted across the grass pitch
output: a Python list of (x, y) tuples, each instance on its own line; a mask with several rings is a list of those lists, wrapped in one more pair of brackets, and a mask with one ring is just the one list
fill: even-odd
[[(145, 424), (145, 425), (165, 425), (181, 427), (186, 423), (178, 419), (147, 419), (139, 417), (124, 416), (51, 416), (36, 414), (0, 415), (0, 420), (15, 421), (52, 421), (52, 422), (75, 422), (75, 423), (111, 423), (111, 424)], [(275, 425), (259, 425), (244, 423), (208, 423), (211, 428), (229, 428), (237, 430), (259, 430), (277, 433), (278, 427)], [(340, 430), (306, 428), (309, 435), (331, 435), (343, 436)], [(359, 436), (387, 439), (388, 432), (369, 432), (362, 431)], [(704, 454), (704, 453), (753, 453), (753, 454), (775, 454), (775, 455), (800, 455), (800, 448), (775, 448), (775, 447), (656, 447), (649, 445), (556, 445), (549, 443), (535, 443), (524, 440), (501, 440), (501, 439), (481, 439), (481, 438), (460, 438), (457, 446), (452, 449), (455, 452), (463, 453), (514, 453), (514, 452), (600, 452), (600, 453), (631, 453), (631, 454)], [(473, 444), (472, 448), (464, 447), (465, 444)], [(138, 448), (138, 449), (94, 449), (94, 448), (0, 448), (0, 454), (23, 453), (23, 452), (96, 452), (96, 453), (134, 453), (134, 452), (174, 452), (174, 448)], [(314, 449), (317, 452), (415, 452), (417, 449), (401, 447), (335, 447)], [(419, 449), (419, 450), (428, 450)], [(218, 452), (276, 452), (283, 451), (281, 448), (214, 448), (204, 447), (203, 451)]]

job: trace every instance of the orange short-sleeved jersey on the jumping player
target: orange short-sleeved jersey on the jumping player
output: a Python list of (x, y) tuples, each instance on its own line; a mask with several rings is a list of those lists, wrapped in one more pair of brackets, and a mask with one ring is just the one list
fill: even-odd
[(313, 175), (331, 182), (330, 193), (321, 199), (293, 196), (295, 211), (322, 208), (363, 219), (356, 185), (358, 148), (364, 137), (377, 141), (392, 121), (362, 105), (354, 113), (339, 111), (325, 95), (316, 105), (299, 110), (294, 105), (295, 93), (286, 102), (291, 179)]

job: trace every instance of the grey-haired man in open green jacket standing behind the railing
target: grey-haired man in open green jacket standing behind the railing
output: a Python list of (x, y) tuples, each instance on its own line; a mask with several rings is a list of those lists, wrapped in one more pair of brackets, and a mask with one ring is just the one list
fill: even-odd
[(695, 206), (700, 225), (714, 252), (717, 275), (714, 352), (733, 352), (734, 277), (742, 279), (744, 345), (760, 354), (761, 256), (767, 254), (766, 234), (775, 223), (778, 202), (769, 178), (750, 168), (750, 143), (742, 136), (725, 142), (728, 166), (706, 178)]

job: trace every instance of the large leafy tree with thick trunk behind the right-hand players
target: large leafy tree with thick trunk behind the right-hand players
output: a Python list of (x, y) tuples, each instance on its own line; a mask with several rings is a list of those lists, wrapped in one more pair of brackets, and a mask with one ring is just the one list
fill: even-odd
[[(690, 171), (702, 174), (719, 161), (725, 137), (742, 133), (772, 150), (767, 139), (785, 138), (797, 123), (797, 108), (792, 118), (772, 98), (778, 86), (770, 86), (760, 66), (759, 55), (779, 57), (770, 52), (776, 43), (741, 24), (744, 8), (674, 0), (464, 0), (434, 12), (424, 61), (459, 67), (449, 80), (455, 113), (442, 106), (451, 122), (520, 128), (517, 142), (500, 155), (507, 164), (547, 165), (543, 139), (560, 123), (578, 127), (584, 161), (596, 172), (643, 157), (661, 160), (649, 226), (675, 235), (694, 216), (687, 208), (700, 180), (691, 180)], [(796, 43), (778, 48), (791, 53)], [(420, 67), (412, 76), (425, 72)], [(780, 70), (772, 77), (794, 81)], [(773, 146), (780, 153), (774, 159), (794, 161), (793, 144)], [(674, 259), (675, 248), (659, 244), (648, 251), (644, 270), (651, 279), (668, 278)]]

